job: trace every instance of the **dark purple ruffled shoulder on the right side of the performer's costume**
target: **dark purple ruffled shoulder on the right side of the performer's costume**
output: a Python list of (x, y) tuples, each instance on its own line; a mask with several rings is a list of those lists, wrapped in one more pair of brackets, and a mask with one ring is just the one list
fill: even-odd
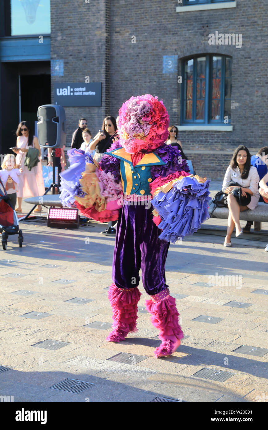
[(180, 155), (180, 150), (171, 145), (164, 144), (160, 148), (155, 149), (154, 153), (158, 155), (166, 164), (163, 166), (152, 166), (151, 175), (152, 180), (165, 177), (174, 172), (189, 172), (189, 167), (186, 160), (183, 160)]

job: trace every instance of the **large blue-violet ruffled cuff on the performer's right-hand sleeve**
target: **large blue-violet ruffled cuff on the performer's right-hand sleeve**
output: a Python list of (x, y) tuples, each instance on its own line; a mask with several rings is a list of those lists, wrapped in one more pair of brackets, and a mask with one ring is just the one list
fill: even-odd
[(210, 202), (209, 183), (209, 179), (203, 184), (196, 178), (186, 176), (178, 180), (167, 193), (160, 191), (156, 194), (152, 205), (162, 218), (158, 225), (163, 230), (160, 239), (175, 243), (197, 231), (210, 217), (207, 210)]

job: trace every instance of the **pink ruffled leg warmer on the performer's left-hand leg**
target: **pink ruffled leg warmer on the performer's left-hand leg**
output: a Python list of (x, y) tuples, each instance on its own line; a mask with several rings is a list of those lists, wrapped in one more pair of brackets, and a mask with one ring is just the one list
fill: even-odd
[(109, 342), (120, 342), (130, 332), (137, 332), (136, 321), (138, 301), (141, 293), (136, 288), (120, 289), (115, 284), (110, 286), (108, 298), (113, 309), (113, 331), (106, 338)]

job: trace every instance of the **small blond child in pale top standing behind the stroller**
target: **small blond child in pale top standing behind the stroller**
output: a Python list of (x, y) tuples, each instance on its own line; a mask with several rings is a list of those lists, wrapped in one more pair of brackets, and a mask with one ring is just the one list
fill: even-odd
[(6, 189), (6, 194), (9, 196), (13, 209), (15, 209), (19, 175), (22, 173), (22, 168), (16, 169), (16, 159), (13, 154), (6, 154), (1, 167), (3, 169), (0, 170), (1, 181), (3, 182), (3, 186)]

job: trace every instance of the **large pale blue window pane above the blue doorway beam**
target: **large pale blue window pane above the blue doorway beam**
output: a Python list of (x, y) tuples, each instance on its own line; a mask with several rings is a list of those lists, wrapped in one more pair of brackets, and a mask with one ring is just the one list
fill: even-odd
[(11, 36), (50, 34), (50, 0), (10, 0)]

